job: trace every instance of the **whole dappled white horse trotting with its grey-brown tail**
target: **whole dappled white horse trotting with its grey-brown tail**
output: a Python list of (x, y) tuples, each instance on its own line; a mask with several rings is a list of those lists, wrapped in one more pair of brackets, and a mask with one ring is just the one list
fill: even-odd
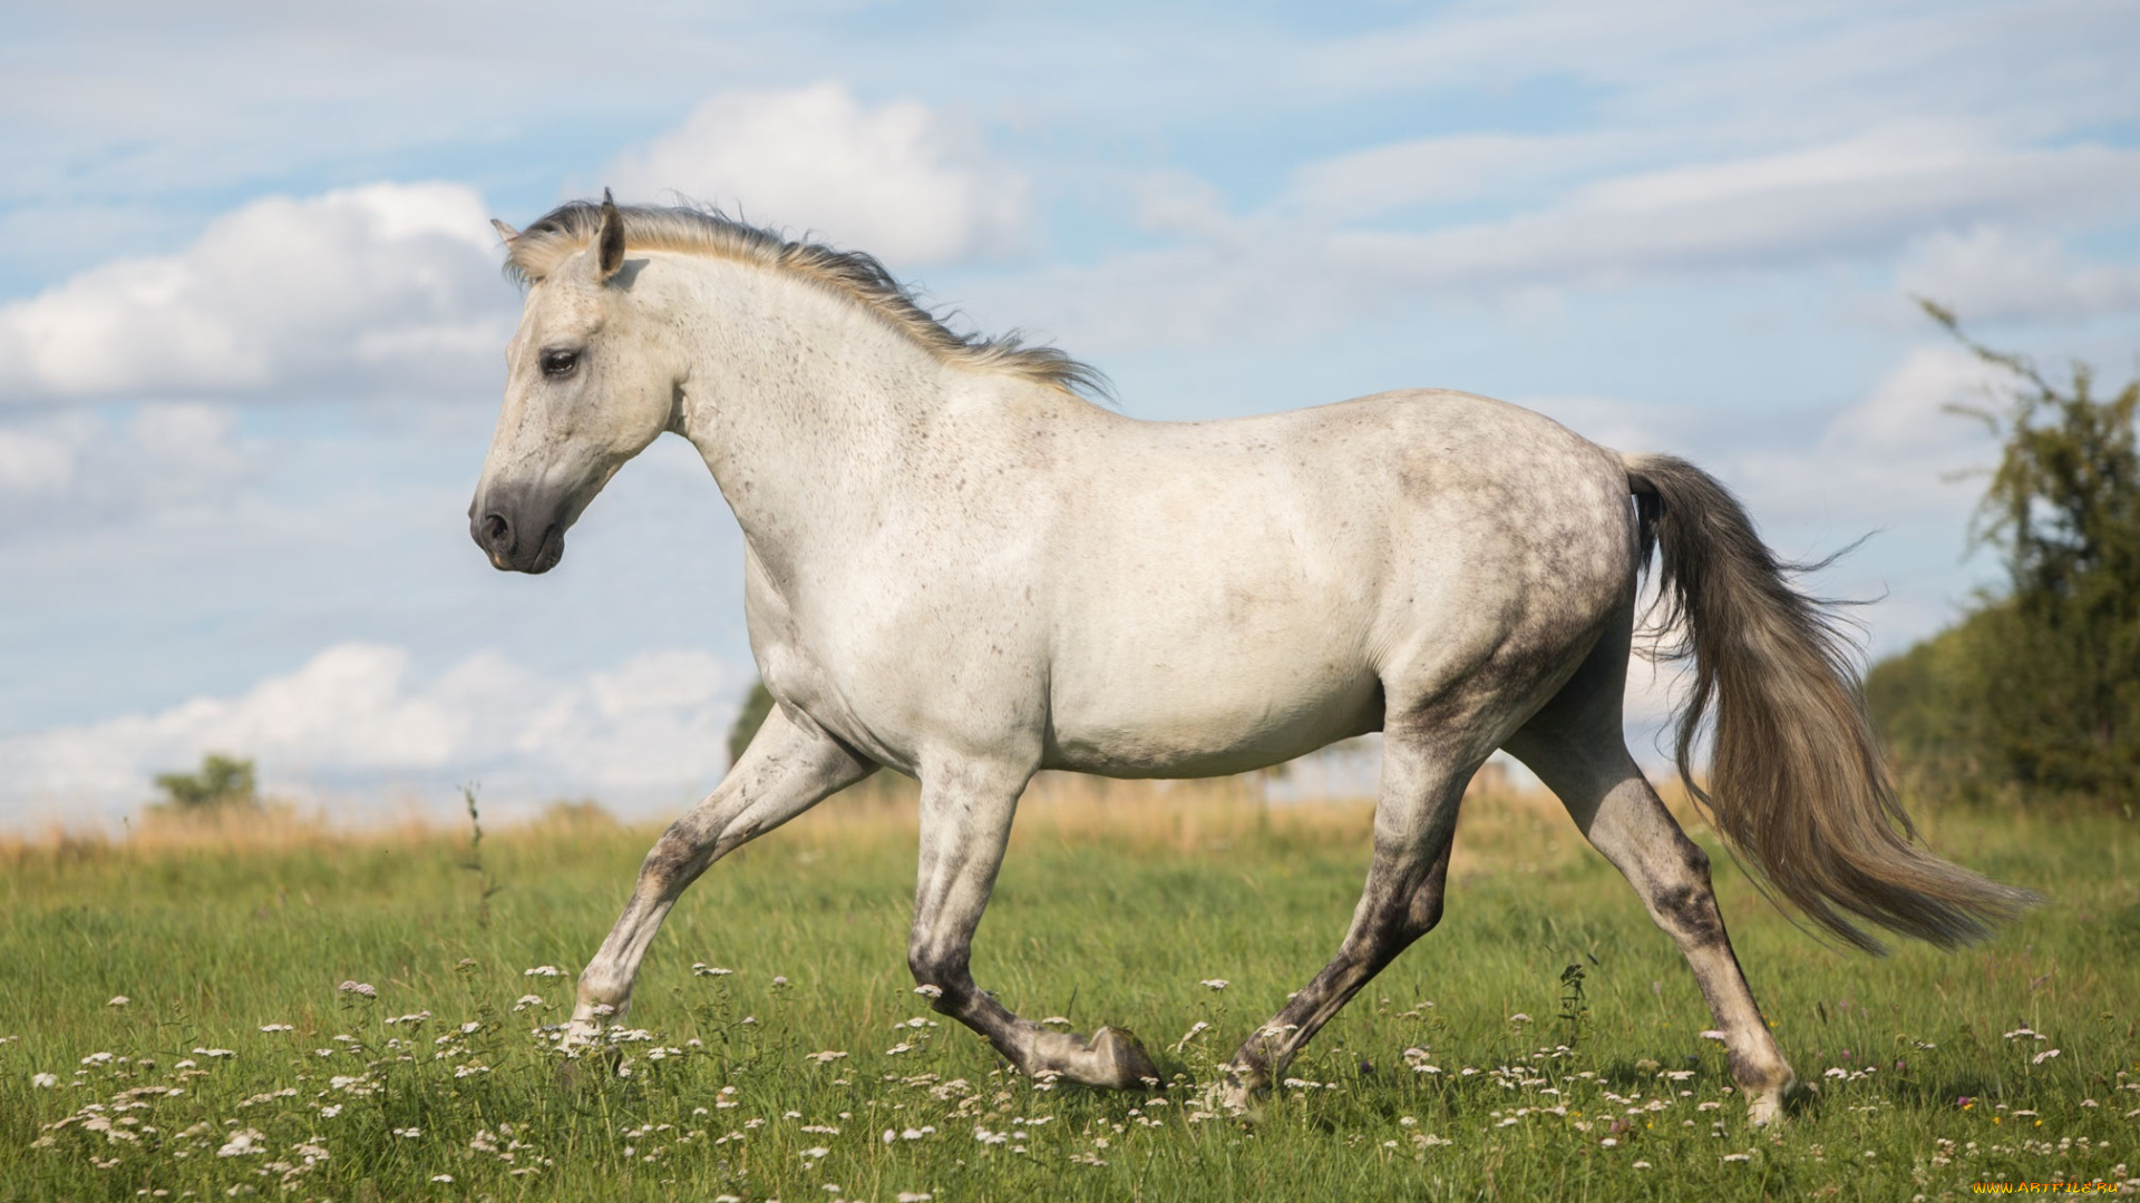
[(1119, 1030), (1044, 1030), (974, 987), (974, 929), (1040, 768), (1239, 773), (1382, 732), (1367, 884), (1338, 955), (1235, 1053), (1235, 1102), (1442, 914), (1457, 805), (1509, 749), (1678, 942), (1757, 1122), (1791, 1068), (1708, 858), (1626, 751), (1637, 574), (1691, 631), (1680, 766), (1714, 713), (1716, 826), (1785, 899), (1956, 944), (2027, 901), (1911, 843), (1855, 679), (1714, 479), (1481, 396), (1395, 392), (1233, 422), (1134, 422), (1053, 349), (963, 338), (867, 255), (696, 210), (567, 203), (499, 225), (526, 310), (469, 509), (501, 569), (548, 572), (663, 430), (745, 537), (777, 709), (661, 835), (580, 974), (574, 1032), (621, 1019), (708, 865), (877, 766), (920, 779), (907, 963), (1027, 1075), (1160, 1070)]

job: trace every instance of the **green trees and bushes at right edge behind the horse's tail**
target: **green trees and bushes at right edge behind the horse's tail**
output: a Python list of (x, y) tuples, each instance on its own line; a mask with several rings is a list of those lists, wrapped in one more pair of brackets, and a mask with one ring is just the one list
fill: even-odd
[(1924, 310), (1994, 368), (1986, 405), (1954, 407), (1999, 439), (1971, 544), (2005, 580), (1962, 619), (1872, 666), (1866, 704), (1915, 786), (1950, 796), (2129, 803), (2140, 781), (2140, 379), (2104, 396)]

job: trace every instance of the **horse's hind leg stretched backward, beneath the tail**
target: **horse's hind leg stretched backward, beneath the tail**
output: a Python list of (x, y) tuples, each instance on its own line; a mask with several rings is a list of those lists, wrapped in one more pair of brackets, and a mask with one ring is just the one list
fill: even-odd
[(1650, 918), (1678, 942), (1725, 1036), (1731, 1077), (1755, 1124), (1783, 1115), (1793, 1075), (1761, 1019), (1746, 974), (1731, 953), (1710, 858), (1644, 779), (1620, 730), (1626, 629), (1607, 636), (1573, 681), (1507, 749), (1560, 794), (1575, 826), (1641, 895)]

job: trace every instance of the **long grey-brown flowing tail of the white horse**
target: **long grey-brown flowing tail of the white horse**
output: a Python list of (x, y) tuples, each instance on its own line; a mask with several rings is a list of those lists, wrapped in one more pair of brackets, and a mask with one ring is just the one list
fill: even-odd
[[(1866, 719), (1849, 640), (1791, 587), (1738, 499), (1676, 456), (1624, 456), (1641, 561), (1663, 554), (1665, 627), (1695, 661), (1678, 713), (1680, 777), (1761, 882), (1845, 942), (1881, 953), (1855, 918), (1943, 948), (1990, 935), (2035, 899), (1915, 841)], [(1708, 790), (1691, 762), (1714, 711)]]

